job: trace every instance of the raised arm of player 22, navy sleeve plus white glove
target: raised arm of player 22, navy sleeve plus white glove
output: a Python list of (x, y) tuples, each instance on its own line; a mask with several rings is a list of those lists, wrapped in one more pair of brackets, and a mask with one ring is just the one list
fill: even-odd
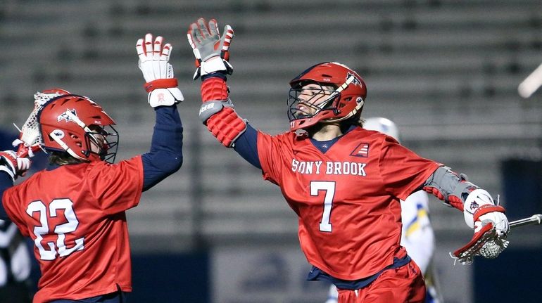
[(163, 44), (163, 37), (153, 40), (152, 34), (146, 34), (137, 41), (136, 50), (146, 81), (144, 87), (149, 92), (148, 102), (156, 112), (151, 150), (141, 155), (146, 191), (182, 165), (182, 123), (177, 104), (184, 98), (169, 63), (172, 46)]

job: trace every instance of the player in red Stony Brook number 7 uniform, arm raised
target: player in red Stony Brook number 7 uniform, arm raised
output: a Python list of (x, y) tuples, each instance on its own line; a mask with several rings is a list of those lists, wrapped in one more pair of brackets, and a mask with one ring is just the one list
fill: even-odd
[(202, 80), (201, 121), (280, 186), (313, 265), (308, 280), (334, 283), (339, 302), (424, 301), (422, 272), (399, 244), (399, 201), (422, 188), (465, 209), (475, 231), (491, 222), (501, 235), (508, 232), (505, 210), (489, 193), (391, 136), (363, 129), (367, 87), (346, 65), (320, 63), (292, 79), (291, 130), (271, 136), (241, 119), (229, 100), (232, 27), (220, 36), (216, 20), (200, 18), (187, 36), (196, 56), (194, 79)]

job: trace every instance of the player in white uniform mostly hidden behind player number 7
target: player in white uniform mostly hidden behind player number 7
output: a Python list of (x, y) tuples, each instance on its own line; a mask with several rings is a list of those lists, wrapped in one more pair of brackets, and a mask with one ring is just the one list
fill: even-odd
[[(389, 119), (383, 117), (367, 118), (363, 128), (380, 131), (401, 141), (396, 124)], [(406, 200), (401, 200), (401, 219), (403, 221), (401, 245), (406, 248), (408, 255), (420, 266), (424, 274), (427, 288), (425, 302), (442, 303), (433, 264), (435, 243), (433, 228), (431, 221), (429, 221), (428, 205), (429, 197), (425, 191), (417, 191), (409, 195)], [(325, 303), (337, 303), (337, 295), (335, 285), (331, 285)]]

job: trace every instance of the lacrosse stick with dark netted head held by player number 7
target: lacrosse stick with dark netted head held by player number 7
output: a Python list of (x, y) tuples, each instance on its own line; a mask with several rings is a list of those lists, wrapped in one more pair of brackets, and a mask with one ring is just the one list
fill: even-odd
[[(510, 229), (541, 223), (542, 214), (534, 214), (531, 217), (510, 222)], [(474, 235), (467, 245), (455, 250), (453, 253), (450, 252), (450, 257), (460, 264), (472, 264), (474, 256), (493, 259), (503, 252), (506, 247), (508, 247), (508, 241), (499, 236), (496, 229), (493, 228), (493, 224), (489, 223), (482, 226), (481, 230)]]

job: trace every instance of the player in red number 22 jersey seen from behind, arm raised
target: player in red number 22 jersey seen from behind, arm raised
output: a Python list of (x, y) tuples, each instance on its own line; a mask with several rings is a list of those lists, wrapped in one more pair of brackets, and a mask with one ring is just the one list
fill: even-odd
[(25, 123), (21, 136), (31, 148), (34, 129), (32, 142), (49, 153), (50, 166), (13, 186), (30, 162), (10, 150), (0, 153), (0, 217), (34, 240), (42, 272), (34, 303), (120, 303), (132, 290), (125, 211), (182, 165), (177, 103), (183, 96), (168, 63), (170, 50), (151, 34), (137, 42), (156, 112), (149, 153), (113, 164), (113, 119), (90, 98), (59, 89), (35, 95), (35, 116), (27, 120), (32, 125)]

